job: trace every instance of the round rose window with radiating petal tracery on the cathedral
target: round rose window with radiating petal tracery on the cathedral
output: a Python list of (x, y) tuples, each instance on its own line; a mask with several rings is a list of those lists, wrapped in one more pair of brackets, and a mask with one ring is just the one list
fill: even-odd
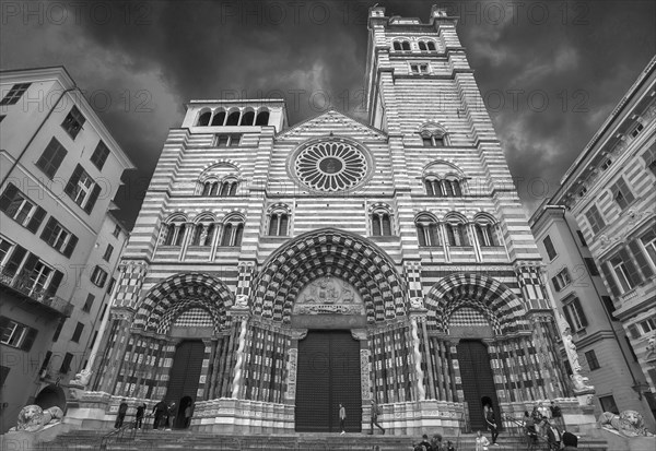
[(368, 169), (364, 153), (341, 139), (313, 142), (303, 147), (294, 159), (297, 179), (317, 191), (354, 188), (364, 180)]

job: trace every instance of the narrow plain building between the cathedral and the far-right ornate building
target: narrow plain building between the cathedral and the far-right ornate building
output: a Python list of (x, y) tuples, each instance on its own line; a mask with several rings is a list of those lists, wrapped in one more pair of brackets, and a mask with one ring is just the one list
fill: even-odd
[[(642, 393), (645, 375), (622, 323), (613, 314), (616, 306), (573, 215), (563, 205), (551, 205), (547, 200), (529, 225), (546, 263), (554, 307), (567, 321), (583, 372), (595, 385), (599, 413), (637, 411), (654, 429), (651, 394)], [(561, 354), (566, 359), (564, 349)]]

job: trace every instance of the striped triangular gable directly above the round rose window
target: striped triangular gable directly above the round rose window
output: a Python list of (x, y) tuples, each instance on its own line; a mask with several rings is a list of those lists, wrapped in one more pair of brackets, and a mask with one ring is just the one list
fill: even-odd
[(326, 134), (345, 135), (359, 140), (387, 140), (387, 134), (342, 112), (330, 109), (281, 132), (277, 139), (309, 139)]

